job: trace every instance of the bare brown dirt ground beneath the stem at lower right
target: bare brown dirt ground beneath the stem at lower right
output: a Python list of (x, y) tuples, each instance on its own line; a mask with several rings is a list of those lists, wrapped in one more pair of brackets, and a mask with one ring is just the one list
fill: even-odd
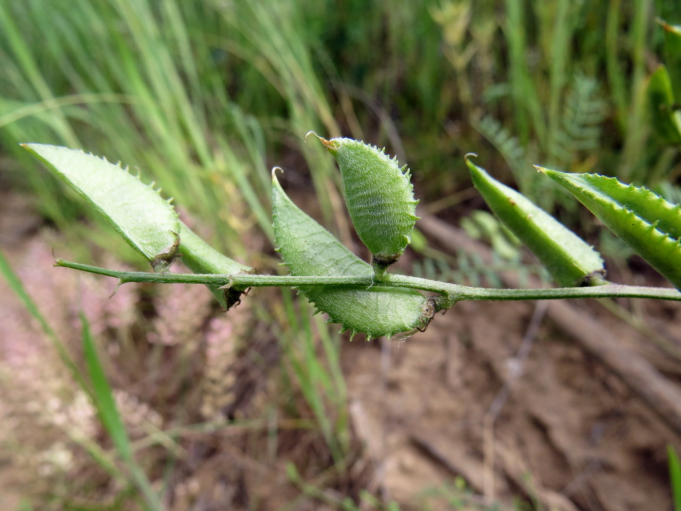
[[(665, 448), (678, 448), (678, 435), (546, 318), (519, 361), (535, 307), (460, 303), (403, 343), (346, 350), (351, 414), (375, 484), (405, 509), (454, 476), (488, 497), (534, 494), (556, 510), (671, 509)], [(664, 307), (678, 324), (681, 308)], [(610, 334), (645, 342), (601, 316)]]

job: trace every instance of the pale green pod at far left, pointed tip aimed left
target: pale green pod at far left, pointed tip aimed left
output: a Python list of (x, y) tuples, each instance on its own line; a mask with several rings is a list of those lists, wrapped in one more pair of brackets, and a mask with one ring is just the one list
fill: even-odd
[(180, 221), (159, 191), (120, 164), (76, 149), (22, 144), (93, 206), (125, 241), (152, 263), (168, 268), (177, 251)]

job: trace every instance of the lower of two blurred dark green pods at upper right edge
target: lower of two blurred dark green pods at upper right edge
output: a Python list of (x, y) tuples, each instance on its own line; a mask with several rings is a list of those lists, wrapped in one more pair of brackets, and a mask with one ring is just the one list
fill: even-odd
[(667, 144), (681, 144), (681, 112), (674, 108), (674, 93), (665, 66), (661, 65), (650, 76), (646, 95), (650, 123), (656, 134)]

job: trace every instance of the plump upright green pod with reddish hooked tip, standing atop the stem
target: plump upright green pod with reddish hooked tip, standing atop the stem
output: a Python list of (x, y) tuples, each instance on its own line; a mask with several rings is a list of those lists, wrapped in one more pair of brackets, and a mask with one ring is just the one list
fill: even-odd
[(380, 274), (405, 251), (418, 219), (409, 170), (364, 142), (319, 140), (336, 157), (348, 213)]

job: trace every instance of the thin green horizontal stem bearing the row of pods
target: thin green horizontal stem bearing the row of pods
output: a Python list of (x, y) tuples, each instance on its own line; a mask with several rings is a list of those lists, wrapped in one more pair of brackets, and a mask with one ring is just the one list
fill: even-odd
[(681, 301), (681, 292), (671, 288), (648, 288), (639, 285), (622, 285), (607, 283), (588, 288), (545, 288), (545, 289), (493, 289), (471, 288), (468, 285), (452, 284), (409, 275), (385, 273), (381, 279), (374, 275), (347, 277), (294, 276), (294, 275), (253, 275), (251, 273), (235, 273), (232, 275), (199, 274), (199, 273), (147, 273), (141, 271), (121, 271), (99, 268), (89, 264), (81, 264), (55, 258), (54, 266), (64, 266), (75, 270), (108, 275), (118, 279), (119, 283), (153, 282), (153, 283), (193, 283), (217, 284), (227, 288), (245, 290), (262, 286), (298, 287), (301, 285), (373, 285), (383, 287), (412, 288), (441, 294), (443, 300), (439, 309), (449, 309), (460, 300), (554, 300), (558, 298), (657, 298), (659, 300)]

